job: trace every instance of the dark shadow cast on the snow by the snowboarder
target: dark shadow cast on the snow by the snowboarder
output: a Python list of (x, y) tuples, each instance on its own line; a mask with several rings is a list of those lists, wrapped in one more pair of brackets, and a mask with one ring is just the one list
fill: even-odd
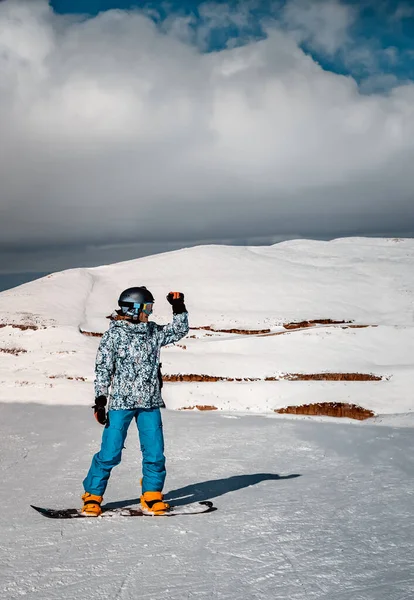
[[(212, 500), (218, 496), (223, 496), (229, 492), (235, 492), (251, 485), (256, 485), (261, 481), (279, 481), (281, 479), (294, 479), (300, 477), (300, 474), (277, 475), (276, 473), (253, 473), (252, 475), (233, 475), (225, 479), (211, 479), (210, 481), (201, 481), (192, 483), (176, 490), (171, 490), (165, 494), (164, 499), (171, 502), (174, 506), (183, 506), (191, 502), (204, 502)], [(120, 500), (119, 502), (108, 502), (105, 508), (124, 508), (131, 504), (138, 504), (139, 498), (131, 500)]]

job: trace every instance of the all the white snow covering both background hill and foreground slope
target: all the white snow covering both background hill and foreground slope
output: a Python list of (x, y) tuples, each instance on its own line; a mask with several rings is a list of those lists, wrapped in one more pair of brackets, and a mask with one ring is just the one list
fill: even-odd
[[(0, 598), (411, 600), (413, 259), (409, 239), (204, 246), (1, 293)], [(100, 444), (90, 409), (99, 338), (81, 331), (105, 331), (130, 285), (154, 293), (160, 323), (168, 291), (186, 294), (193, 329), (163, 350), (164, 374), (245, 379), (164, 387), (167, 498), (218, 510), (45, 519), (29, 505), (79, 506)], [(346, 323), (284, 328), (316, 319)], [(381, 379), (283, 379), (312, 373)], [(274, 412), (317, 402), (376, 416)], [(217, 410), (171, 410), (197, 405)], [(138, 503), (140, 460), (131, 426), (106, 503)]]

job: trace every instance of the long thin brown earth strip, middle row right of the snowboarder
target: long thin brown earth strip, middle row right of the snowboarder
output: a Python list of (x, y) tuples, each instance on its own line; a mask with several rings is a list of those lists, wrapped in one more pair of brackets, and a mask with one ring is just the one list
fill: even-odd
[(166, 382), (216, 382), (216, 381), (382, 381), (384, 377), (372, 373), (287, 373), (280, 377), (271, 376), (261, 379), (259, 377), (220, 377), (216, 375), (165, 374)]

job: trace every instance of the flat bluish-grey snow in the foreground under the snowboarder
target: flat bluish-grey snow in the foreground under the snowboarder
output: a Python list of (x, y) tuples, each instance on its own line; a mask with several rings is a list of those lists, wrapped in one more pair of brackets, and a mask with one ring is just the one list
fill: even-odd
[[(191, 520), (68, 522), (29, 504), (80, 502), (101, 436), (90, 409), (0, 405), (2, 599), (414, 597), (412, 429), (163, 415), (167, 497), (209, 498), (219, 510)], [(136, 503), (139, 477), (131, 427), (105, 501)]]

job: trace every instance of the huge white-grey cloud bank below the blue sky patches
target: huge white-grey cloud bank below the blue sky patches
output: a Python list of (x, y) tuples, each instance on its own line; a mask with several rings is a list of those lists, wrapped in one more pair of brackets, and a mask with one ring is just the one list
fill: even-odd
[(267, 27), (202, 54), (139, 13), (0, 3), (3, 247), (408, 225), (414, 85), (361, 95)]

